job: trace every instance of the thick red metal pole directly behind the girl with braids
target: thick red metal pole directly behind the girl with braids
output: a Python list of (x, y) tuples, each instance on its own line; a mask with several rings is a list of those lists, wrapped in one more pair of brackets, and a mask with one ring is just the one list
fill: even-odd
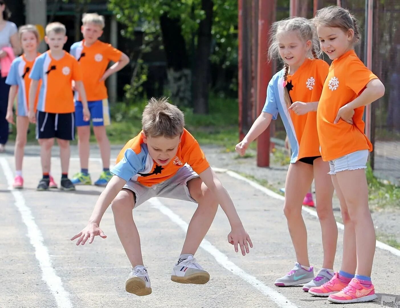
[[(257, 60), (257, 113), (265, 104), (266, 89), (272, 77), (272, 63), (268, 62), (268, 32), (275, 19), (275, 0), (258, 2), (258, 60)], [(266, 129), (257, 138), (257, 166), (270, 165), (270, 129)]]

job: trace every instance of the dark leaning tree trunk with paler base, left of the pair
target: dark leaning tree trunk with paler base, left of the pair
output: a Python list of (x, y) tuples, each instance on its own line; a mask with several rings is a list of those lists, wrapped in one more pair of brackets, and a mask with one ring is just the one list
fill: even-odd
[(167, 14), (160, 17), (162, 41), (167, 59), (167, 77), (172, 103), (190, 106), (191, 71), (189, 56), (179, 19), (171, 19)]

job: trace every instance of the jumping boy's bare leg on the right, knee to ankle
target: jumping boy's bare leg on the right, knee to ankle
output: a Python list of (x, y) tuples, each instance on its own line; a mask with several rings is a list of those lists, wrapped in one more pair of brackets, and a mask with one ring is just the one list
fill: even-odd
[(187, 185), (190, 196), (198, 202), (198, 206), (190, 220), (181, 254), (194, 255), (210, 229), (218, 209), (218, 201), (200, 177), (191, 179)]

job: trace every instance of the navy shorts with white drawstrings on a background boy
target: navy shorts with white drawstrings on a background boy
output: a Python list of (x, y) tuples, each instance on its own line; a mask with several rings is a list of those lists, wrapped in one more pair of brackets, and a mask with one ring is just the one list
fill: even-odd
[(75, 114), (36, 112), (36, 139), (75, 139)]

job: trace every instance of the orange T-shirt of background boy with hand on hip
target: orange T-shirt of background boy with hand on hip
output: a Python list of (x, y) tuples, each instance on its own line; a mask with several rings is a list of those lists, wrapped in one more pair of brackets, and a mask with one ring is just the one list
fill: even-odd
[[(122, 52), (97, 40), (90, 47), (85, 46), (85, 40), (71, 46), (70, 53), (79, 61), (83, 71), (83, 84), (88, 101), (101, 101), (108, 98), (105, 81), (100, 81), (110, 61), (118, 62)], [(76, 96), (78, 101), (80, 97)]]

